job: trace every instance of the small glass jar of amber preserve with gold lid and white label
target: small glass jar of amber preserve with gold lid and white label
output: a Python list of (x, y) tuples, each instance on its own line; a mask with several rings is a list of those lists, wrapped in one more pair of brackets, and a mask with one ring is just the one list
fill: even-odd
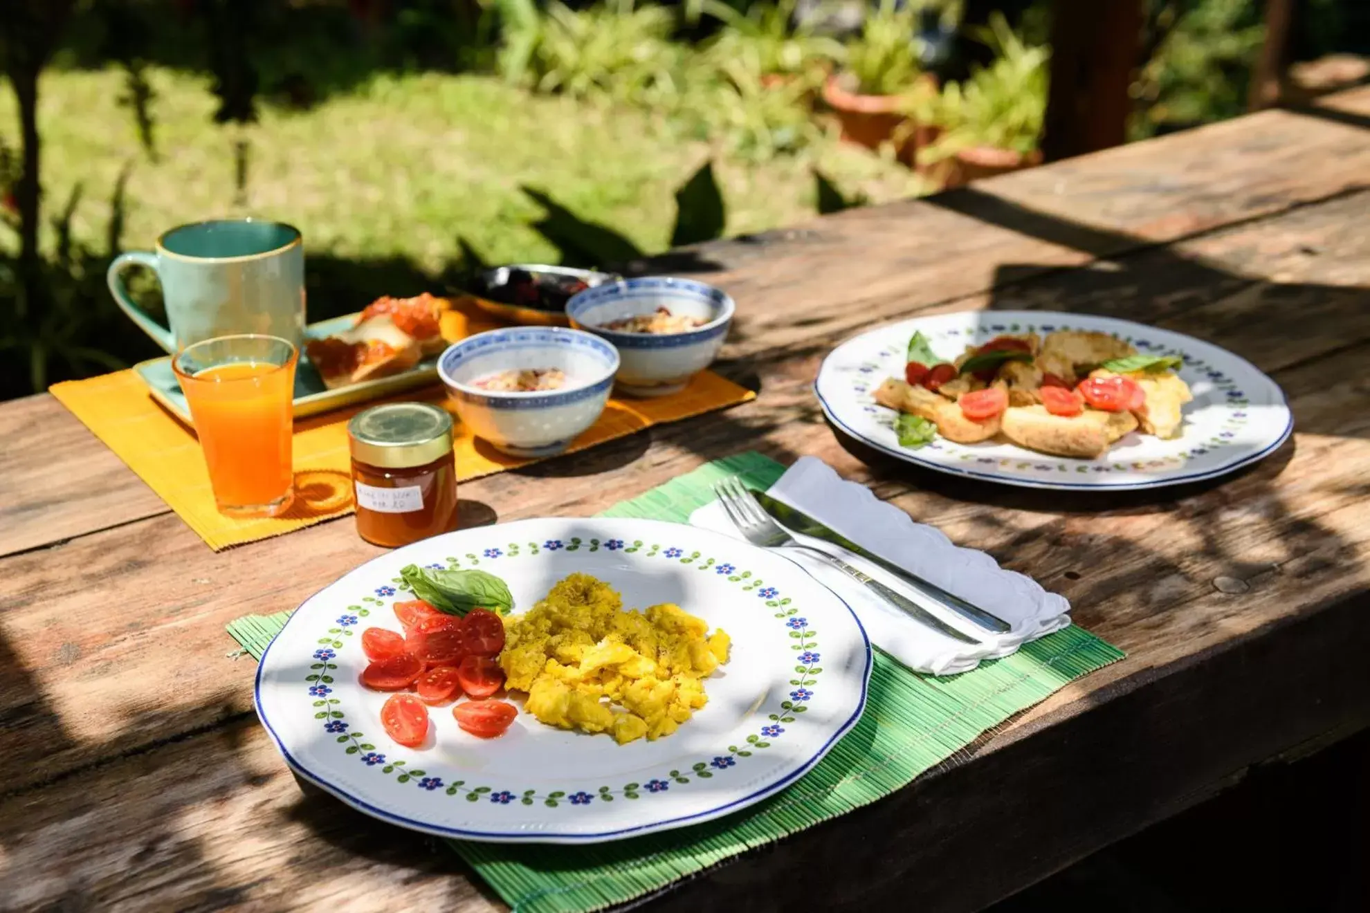
[(452, 416), (425, 402), (389, 402), (347, 423), (356, 531), (396, 548), (456, 526)]

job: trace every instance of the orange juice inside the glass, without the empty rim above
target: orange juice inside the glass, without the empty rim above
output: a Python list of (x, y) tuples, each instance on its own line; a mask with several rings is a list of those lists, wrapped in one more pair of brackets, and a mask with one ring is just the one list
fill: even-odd
[(292, 487), (295, 365), (234, 361), (182, 375), (214, 498), (225, 513), (279, 513)]

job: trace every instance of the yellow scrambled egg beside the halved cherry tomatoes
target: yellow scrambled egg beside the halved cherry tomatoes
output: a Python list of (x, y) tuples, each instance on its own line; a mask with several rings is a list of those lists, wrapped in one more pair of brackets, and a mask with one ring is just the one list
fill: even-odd
[(677, 605), (623, 610), (618, 591), (588, 574), (560, 580), (504, 626), (500, 665), (507, 687), (527, 691), (523, 709), (619, 745), (659, 739), (690, 719), (730, 646), (722, 628), (710, 635), (703, 619)]

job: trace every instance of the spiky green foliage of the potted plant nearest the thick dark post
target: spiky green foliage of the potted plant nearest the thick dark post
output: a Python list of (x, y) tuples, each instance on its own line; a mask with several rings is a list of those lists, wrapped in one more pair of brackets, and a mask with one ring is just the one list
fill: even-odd
[(919, 163), (943, 162), (971, 146), (1028, 155), (1041, 140), (1049, 48), (1029, 47), (999, 12), (975, 38), (995, 52), (993, 63), (973, 66), (969, 79), (949, 82), (940, 93), (908, 99), (915, 122), (941, 127), (937, 140), (919, 151)]

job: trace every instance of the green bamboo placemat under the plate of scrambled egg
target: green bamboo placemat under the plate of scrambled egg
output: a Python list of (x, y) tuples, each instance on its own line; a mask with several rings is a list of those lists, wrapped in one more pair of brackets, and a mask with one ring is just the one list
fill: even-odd
[[(715, 460), (601, 516), (684, 523), (738, 475), (771, 486), (785, 471), (759, 453)], [(289, 612), (249, 615), (229, 634), (260, 658)], [(748, 849), (869, 805), (907, 786), (1014, 713), (1123, 653), (1078, 627), (1023, 645), (1012, 656), (952, 676), (910, 672), (875, 652), (866, 712), (818, 767), (788, 790), (725, 819), (592, 846), (448, 840), (518, 913), (586, 913), (662, 890)]]

